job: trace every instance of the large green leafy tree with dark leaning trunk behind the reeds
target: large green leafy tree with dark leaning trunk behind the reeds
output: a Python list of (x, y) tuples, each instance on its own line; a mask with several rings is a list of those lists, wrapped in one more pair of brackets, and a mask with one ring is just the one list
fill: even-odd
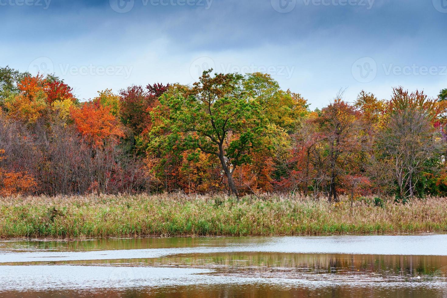
[(252, 153), (268, 149), (272, 127), (259, 103), (244, 91), (243, 76), (212, 77), (211, 71), (204, 71), (192, 88), (178, 88), (160, 97), (152, 116), (158, 122), (150, 133), (150, 146), (217, 156), (229, 191), (237, 196), (233, 172), (250, 163)]

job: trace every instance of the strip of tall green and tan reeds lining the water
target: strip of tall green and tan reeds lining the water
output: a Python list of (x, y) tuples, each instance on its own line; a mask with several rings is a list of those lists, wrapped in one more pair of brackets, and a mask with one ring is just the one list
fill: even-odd
[(447, 232), (447, 198), (406, 205), (329, 204), (286, 197), (83, 196), (0, 198), (0, 237), (338, 235)]

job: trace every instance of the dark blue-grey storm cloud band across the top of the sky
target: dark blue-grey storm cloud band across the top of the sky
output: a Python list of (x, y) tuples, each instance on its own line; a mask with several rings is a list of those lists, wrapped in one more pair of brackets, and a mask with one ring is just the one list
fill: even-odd
[[(165, 36), (190, 50), (289, 44), (334, 35), (340, 35), (340, 42), (346, 45), (376, 43), (396, 34), (434, 36), (443, 30), (440, 24), (447, 25), (447, 14), (434, 9), (431, 1), (296, 0), (288, 13), (275, 10), (275, 1), (51, 0), (47, 9), (6, 5), (0, 13), (4, 20), (16, 23), (8, 30), (8, 38), (16, 37), (25, 27), (35, 32), (30, 38), (40, 39), (64, 39), (97, 29), (118, 38), (133, 28), (141, 38)], [(118, 2), (121, 7), (131, 5), (131, 9), (116, 12), (113, 8)], [(14, 21), (25, 16), (28, 19)]]

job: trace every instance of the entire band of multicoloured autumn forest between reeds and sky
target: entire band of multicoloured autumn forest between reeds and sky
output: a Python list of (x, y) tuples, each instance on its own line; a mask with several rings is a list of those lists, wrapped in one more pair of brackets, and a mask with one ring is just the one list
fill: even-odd
[(311, 109), (268, 74), (210, 69), (85, 101), (59, 77), (1, 67), (0, 196), (446, 197), (447, 89), (369, 91)]

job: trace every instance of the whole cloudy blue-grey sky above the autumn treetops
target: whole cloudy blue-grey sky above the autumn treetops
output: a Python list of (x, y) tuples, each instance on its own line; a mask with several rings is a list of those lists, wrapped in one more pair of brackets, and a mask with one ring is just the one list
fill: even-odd
[(311, 108), (340, 89), (447, 88), (447, 0), (0, 0), (0, 66), (54, 73), (77, 97), (265, 72)]

